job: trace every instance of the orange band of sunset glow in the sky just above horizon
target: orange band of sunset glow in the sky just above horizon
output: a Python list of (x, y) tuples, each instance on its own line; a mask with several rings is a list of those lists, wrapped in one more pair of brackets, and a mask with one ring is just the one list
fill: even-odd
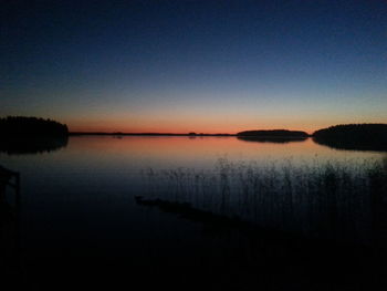
[[(121, 117), (121, 118), (119, 118)], [(242, 131), (253, 129), (290, 129), (303, 131), (308, 134), (337, 124), (348, 123), (384, 123), (381, 119), (343, 119), (336, 116), (325, 119), (317, 117), (296, 118), (287, 116), (284, 118), (261, 117), (248, 118), (237, 116), (167, 116), (165, 118), (154, 116), (142, 116), (142, 118), (128, 118), (125, 116), (115, 118), (77, 119), (66, 122), (70, 132), (102, 132), (102, 133), (174, 133), (187, 134), (237, 134)]]

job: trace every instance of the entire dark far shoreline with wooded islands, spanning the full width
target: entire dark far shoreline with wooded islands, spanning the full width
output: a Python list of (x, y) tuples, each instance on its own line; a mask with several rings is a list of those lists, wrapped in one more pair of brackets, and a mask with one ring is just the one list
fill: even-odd
[[(387, 124), (342, 124), (315, 131), (307, 134), (302, 131), (289, 129), (253, 129), (243, 131), (237, 134), (229, 133), (123, 133), (123, 132), (69, 132), (65, 124), (51, 119), (24, 116), (8, 116), (0, 118), (0, 142), (1, 152), (20, 152), (18, 148), (31, 145), (34, 153), (38, 148), (48, 145), (50, 148), (62, 147), (66, 144), (69, 136), (188, 136), (195, 137), (237, 137), (243, 142), (258, 143), (290, 143), (303, 142), (308, 137), (317, 144), (330, 146), (336, 149), (354, 150), (377, 150), (387, 152)], [(49, 138), (50, 137), (50, 138)], [(51, 138), (61, 137), (60, 145)], [(32, 141), (34, 139), (34, 141)], [(38, 141), (38, 142), (36, 142)], [(21, 150), (23, 152), (23, 150)], [(28, 150), (27, 150), (28, 152)], [(44, 149), (43, 149), (44, 152)]]

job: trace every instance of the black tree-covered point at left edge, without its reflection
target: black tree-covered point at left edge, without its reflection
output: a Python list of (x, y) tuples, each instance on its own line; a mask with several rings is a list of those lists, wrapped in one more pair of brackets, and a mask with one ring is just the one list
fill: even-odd
[(1, 136), (66, 136), (67, 126), (51, 119), (24, 116), (0, 118)]

